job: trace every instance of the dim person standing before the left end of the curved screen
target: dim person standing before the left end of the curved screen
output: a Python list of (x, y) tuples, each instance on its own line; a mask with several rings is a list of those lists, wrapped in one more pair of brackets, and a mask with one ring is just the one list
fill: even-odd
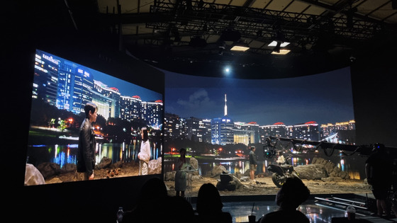
[(186, 159), (186, 149), (179, 149), (179, 158), (177, 159), (177, 173), (175, 173), (175, 190), (176, 195), (184, 198), (186, 190), (186, 166), (189, 165)]

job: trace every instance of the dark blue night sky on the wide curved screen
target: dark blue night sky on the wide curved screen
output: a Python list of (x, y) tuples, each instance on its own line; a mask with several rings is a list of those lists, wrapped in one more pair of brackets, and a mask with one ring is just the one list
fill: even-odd
[[(163, 71), (164, 72), (164, 71)], [(233, 79), (165, 73), (166, 113), (181, 118), (228, 117), (259, 125), (354, 120), (350, 68), (285, 79)]]

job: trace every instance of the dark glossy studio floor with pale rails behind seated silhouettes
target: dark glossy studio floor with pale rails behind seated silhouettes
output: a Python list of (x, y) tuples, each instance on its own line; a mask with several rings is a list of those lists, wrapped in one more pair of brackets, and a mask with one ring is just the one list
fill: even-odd
[[(274, 198), (275, 195), (223, 196), (223, 211), (230, 212), (233, 222), (236, 223), (248, 222), (248, 215), (252, 211), (258, 220), (266, 213), (278, 208)], [(190, 198), (190, 201), (196, 208), (195, 199)], [(343, 217), (347, 217), (345, 212), (347, 204), (353, 204), (357, 210), (357, 219), (367, 219), (369, 222), (397, 222), (397, 218), (372, 217), (373, 210), (371, 208), (374, 202), (371, 194), (311, 195), (311, 198), (301, 205), (300, 210), (313, 223), (332, 222), (332, 217), (340, 217), (344, 220)]]

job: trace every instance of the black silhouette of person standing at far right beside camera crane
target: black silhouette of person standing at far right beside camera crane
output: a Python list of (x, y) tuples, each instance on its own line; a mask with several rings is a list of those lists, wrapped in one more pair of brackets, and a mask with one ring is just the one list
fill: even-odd
[(376, 199), (377, 213), (374, 215), (388, 216), (391, 213), (391, 204), (387, 198), (392, 183), (393, 160), (383, 144), (374, 144), (372, 150), (374, 153), (365, 161), (365, 173)]

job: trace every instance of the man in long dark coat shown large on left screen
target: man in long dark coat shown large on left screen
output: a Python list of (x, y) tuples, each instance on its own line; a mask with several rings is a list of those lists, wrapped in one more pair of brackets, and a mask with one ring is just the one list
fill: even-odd
[(95, 133), (92, 122), (96, 122), (98, 116), (97, 107), (94, 103), (86, 103), (84, 113), (86, 118), (82, 122), (79, 133), (79, 149), (77, 153), (77, 181), (94, 180), (95, 167)]

